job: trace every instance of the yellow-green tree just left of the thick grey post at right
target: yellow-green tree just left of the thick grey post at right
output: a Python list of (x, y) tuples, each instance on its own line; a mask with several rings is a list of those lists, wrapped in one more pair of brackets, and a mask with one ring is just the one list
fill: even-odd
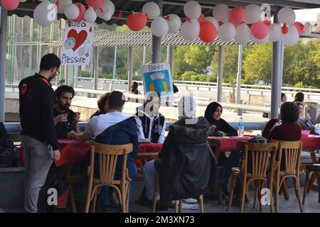
[(272, 43), (254, 45), (243, 60), (244, 82), (256, 83), (259, 80), (270, 84), (272, 69)]

